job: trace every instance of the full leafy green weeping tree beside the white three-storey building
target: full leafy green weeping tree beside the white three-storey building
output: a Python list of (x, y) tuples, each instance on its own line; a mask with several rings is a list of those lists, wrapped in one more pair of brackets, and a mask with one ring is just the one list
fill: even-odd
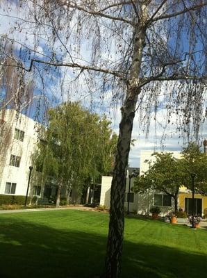
[(42, 130), (34, 157), (36, 165), (42, 165), (44, 180), (53, 177), (58, 183), (56, 206), (63, 185), (72, 188), (76, 198), (85, 180), (97, 179), (110, 170), (116, 144), (111, 136), (106, 117), (100, 119), (78, 102), (49, 109), (48, 126)]

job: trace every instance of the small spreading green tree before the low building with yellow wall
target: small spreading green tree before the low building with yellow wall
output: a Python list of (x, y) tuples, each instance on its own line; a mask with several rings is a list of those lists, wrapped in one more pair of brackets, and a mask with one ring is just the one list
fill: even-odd
[[(174, 199), (174, 211), (178, 211), (179, 188), (186, 186), (192, 189), (191, 174), (196, 174), (195, 190), (207, 195), (207, 156), (200, 152), (199, 146), (191, 143), (183, 149), (180, 159), (172, 153), (158, 153), (156, 161), (142, 176), (137, 177), (133, 190), (145, 193), (147, 190), (159, 190)], [(151, 165), (151, 161), (149, 161)]]

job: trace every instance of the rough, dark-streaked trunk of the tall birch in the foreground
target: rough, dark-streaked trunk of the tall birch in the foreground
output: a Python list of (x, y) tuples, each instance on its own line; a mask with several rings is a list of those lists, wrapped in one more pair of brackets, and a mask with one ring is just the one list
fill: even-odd
[(133, 60), (126, 99), (121, 108), (122, 120), (119, 124), (117, 155), (110, 192), (110, 222), (106, 252), (106, 264), (103, 277), (117, 278), (120, 276), (122, 263), (122, 245), (124, 238), (124, 195), (126, 185), (126, 167), (128, 166), (131, 133), (135, 116), (135, 106), (140, 90), (139, 75), (144, 47), (144, 29), (135, 30)]

